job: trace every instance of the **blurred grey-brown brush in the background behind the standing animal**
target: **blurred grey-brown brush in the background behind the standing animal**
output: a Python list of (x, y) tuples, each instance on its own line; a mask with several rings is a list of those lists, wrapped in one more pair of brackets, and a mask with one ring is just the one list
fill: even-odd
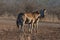
[[(60, 0), (0, 0), (0, 16), (16, 17), (20, 12), (32, 12), (46, 8), (48, 15), (53, 20), (60, 21)], [(57, 15), (56, 15), (57, 14)], [(56, 18), (55, 18), (56, 17)], [(49, 18), (46, 18), (49, 20)]]

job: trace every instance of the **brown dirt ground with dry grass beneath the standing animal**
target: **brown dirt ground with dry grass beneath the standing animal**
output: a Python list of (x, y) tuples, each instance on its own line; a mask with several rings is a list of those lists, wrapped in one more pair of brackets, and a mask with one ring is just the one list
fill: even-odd
[(39, 22), (37, 33), (21, 32), (16, 26), (16, 20), (0, 19), (0, 40), (60, 40), (60, 24)]

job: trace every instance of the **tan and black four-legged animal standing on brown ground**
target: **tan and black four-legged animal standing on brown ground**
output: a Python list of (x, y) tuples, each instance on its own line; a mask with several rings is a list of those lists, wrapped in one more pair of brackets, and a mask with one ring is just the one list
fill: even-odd
[(19, 25), (21, 25), (21, 29), (23, 29), (27, 22), (27, 24), (31, 24), (31, 30), (34, 28), (35, 23), (38, 29), (39, 18), (44, 18), (45, 10), (46, 9), (41, 9), (40, 11), (35, 12), (19, 13), (16, 21), (17, 27), (19, 28)]

